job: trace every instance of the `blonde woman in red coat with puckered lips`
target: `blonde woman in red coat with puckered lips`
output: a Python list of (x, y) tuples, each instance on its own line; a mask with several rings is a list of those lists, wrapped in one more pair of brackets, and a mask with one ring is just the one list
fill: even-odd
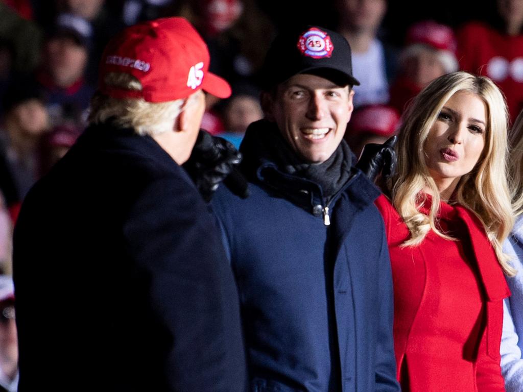
[(503, 391), (503, 256), (513, 215), (507, 110), (486, 77), (430, 83), (405, 113), (383, 215), (394, 280), (397, 377), (405, 391)]

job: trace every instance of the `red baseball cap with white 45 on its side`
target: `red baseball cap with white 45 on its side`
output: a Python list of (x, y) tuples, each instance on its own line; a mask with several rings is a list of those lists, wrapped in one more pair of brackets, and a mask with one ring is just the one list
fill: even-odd
[[(231, 86), (209, 70), (207, 44), (185, 18), (161, 18), (128, 27), (107, 45), (100, 63), (99, 88), (113, 98), (143, 98), (166, 102), (186, 98), (203, 89), (228, 98)], [(141, 91), (104, 82), (110, 72), (131, 74)]]

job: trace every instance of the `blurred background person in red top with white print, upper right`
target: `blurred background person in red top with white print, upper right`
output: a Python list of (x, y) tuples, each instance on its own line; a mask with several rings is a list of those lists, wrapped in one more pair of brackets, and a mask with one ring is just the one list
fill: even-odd
[(487, 22), (471, 21), (458, 29), (458, 59), (462, 70), (486, 75), (501, 87), (514, 121), (523, 109), (523, 0), (488, 5)]

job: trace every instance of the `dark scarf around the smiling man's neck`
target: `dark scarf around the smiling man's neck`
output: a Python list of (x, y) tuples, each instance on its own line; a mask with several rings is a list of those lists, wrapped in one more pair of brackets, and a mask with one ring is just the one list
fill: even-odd
[(328, 201), (351, 177), (354, 154), (345, 140), (325, 162), (305, 162), (283, 139), (275, 123), (259, 120), (252, 123), (245, 133), (240, 151), (244, 156), (242, 167), (247, 172), (257, 170), (264, 162), (274, 163), (278, 170), (311, 180), (322, 188)]

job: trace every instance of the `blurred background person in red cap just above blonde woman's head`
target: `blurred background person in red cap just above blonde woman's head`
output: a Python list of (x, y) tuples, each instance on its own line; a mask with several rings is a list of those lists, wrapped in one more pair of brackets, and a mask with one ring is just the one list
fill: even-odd
[(432, 80), (458, 71), (456, 45), (452, 28), (433, 20), (418, 21), (408, 28), (390, 88), (390, 105), (403, 113), (407, 103)]

